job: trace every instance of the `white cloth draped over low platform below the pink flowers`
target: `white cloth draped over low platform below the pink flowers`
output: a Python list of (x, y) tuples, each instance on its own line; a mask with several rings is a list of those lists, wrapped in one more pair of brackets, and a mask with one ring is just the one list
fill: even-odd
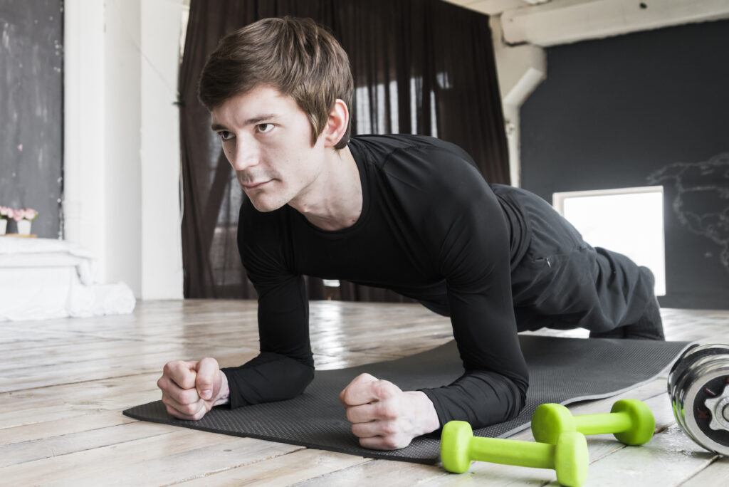
[(79, 244), (52, 238), (0, 238), (0, 322), (134, 311), (131, 289), (95, 284), (95, 260)]

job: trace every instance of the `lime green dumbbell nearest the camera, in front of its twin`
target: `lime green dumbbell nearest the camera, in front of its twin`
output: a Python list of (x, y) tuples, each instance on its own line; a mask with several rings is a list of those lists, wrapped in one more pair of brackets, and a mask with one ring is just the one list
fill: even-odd
[(548, 468), (556, 470), (558, 482), (566, 487), (580, 487), (588, 475), (588, 444), (578, 432), (566, 432), (550, 445), (474, 437), (466, 421), (449, 421), (443, 426), (440, 459), (443, 468), (454, 473), (466, 472), (471, 460)]

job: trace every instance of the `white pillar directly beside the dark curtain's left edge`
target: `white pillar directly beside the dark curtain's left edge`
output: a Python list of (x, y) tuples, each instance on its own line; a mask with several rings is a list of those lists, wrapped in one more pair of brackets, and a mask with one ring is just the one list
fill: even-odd
[(141, 2), (141, 296), (182, 299), (179, 70), (183, 0)]

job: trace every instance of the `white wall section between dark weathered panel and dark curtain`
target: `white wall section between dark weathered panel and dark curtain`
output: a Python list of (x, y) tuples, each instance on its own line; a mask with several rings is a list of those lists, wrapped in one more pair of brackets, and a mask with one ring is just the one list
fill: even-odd
[(99, 282), (182, 298), (176, 78), (183, 0), (65, 2), (65, 236)]

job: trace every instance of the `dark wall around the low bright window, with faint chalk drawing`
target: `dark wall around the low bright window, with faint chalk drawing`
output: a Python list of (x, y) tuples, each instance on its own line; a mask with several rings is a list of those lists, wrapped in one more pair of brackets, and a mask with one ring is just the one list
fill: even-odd
[(663, 184), (666, 297), (729, 308), (729, 21), (547, 49), (521, 109), (522, 187)]

